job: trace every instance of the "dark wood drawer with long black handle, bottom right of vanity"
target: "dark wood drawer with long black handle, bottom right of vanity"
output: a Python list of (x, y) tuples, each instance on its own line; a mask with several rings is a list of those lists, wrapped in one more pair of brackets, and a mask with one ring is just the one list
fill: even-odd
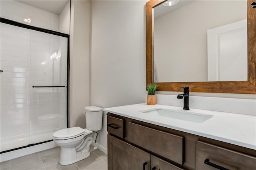
[(222, 170), (255, 170), (256, 157), (197, 140), (196, 170), (216, 170), (221, 167)]

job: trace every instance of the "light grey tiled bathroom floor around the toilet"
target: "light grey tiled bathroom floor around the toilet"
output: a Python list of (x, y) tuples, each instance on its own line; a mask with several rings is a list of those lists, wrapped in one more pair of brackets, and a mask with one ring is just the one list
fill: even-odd
[(71, 165), (60, 165), (60, 147), (1, 162), (1, 170), (107, 170), (107, 154), (90, 146), (90, 156)]

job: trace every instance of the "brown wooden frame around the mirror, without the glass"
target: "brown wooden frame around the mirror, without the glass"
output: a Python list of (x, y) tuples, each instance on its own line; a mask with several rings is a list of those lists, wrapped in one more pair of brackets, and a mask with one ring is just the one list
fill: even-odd
[(247, 81), (154, 82), (153, 10), (165, 1), (146, 3), (146, 84), (157, 83), (158, 91), (182, 91), (180, 87), (188, 86), (190, 92), (256, 94), (256, 8), (252, 0), (247, 0)]

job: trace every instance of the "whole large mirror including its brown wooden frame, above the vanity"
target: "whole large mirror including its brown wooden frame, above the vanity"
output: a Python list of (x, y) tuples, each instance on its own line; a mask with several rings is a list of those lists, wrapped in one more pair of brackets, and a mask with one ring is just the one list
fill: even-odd
[(147, 83), (159, 91), (256, 94), (251, 0), (163, 2), (146, 3)]

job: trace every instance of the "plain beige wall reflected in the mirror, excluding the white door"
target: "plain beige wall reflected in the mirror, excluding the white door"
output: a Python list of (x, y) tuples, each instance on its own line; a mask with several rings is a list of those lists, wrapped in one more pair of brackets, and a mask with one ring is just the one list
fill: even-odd
[(158, 82), (207, 81), (207, 30), (245, 20), (246, 9), (244, 0), (199, 0), (154, 20)]

